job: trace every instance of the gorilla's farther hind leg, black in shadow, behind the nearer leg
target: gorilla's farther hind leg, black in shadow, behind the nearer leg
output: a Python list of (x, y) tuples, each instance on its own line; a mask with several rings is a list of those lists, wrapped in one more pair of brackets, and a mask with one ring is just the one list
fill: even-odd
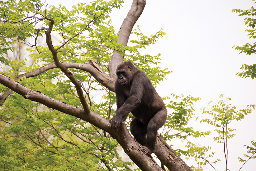
[(138, 119), (134, 118), (130, 124), (130, 131), (138, 143), (141, 145), (146, 145), (146, 125), (141, 123)]

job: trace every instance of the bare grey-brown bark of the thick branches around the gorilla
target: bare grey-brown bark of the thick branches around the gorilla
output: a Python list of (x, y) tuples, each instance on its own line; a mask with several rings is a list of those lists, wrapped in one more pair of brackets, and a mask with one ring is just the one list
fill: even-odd
[[(134, 0), (131, 6), (131, 9), (124, 19), (124, 22), (120, 28), (118, 34), (117, 43), (122, 43), (123, 46), (127, 45), (130, 33), (132, 28), (140, 17), (144, 7), (146, 0)], [(134, 140), (134, 138), (130, 135), (127, 130), (125, 124), (122, 124), (120, 128), (111, 128), (110, 122), (108, 119), (102, 118), (97, 113), (91, 111), (88, 107), (88, 104), (83, 96), (83, 91), (81, 89), (81, 85), (79, 81), (77, 81), (73, 74), (69, 71), (68, 68), (76, 68), (81, 69), (86, 72), (89, 72), (93, 75), (96, 80), (101, 83), (103, 86), (108, 88), (111, 91), (114, 91), (115, 84), (115, 71), (117, 66), (123, 62), (123, 56), (114, 52), (111, 58), (111, 61), (108, 65), (110, 71), (110, 77), (106, 75), (103, 69), (97, 64), (95, 60), (89, 60), (90, 63), (61, 63), (57, 56), (57, 49), (55, 49), (52, 45), (51, 41), (51, 31), (54, 25), (54, 20), (52, 18), (45, 17), (45, 19), (50, 21), (49, 28), (46, 29), (46, 43), (48, 45), (49, 50), (51, 50), (54, 63), (49, 63), (45, 66), (38, 68), (35, 71), (31, 71), (29, 73), (22, 74), (15, 79), (19, 79), (22, 76), (26, 78), (33, 77), (53, 68), (60, 68), (63, 73), (67, 75), (67, 77), (74, 83), (77, 94), (79, 95), (79, 99), (83, 108), (73, 107), (68, 105), (60, 100), (53, 99), (48, 97), (40, 92), (31, 90), (19, 84), (18, 82), (12, 80), (11, 78), (0, 74), (0, 83), (4, 86), (8, 87), (10, 90), (6, 91), (2, 96), (0, 96), (0, 106), (4, 103), (6, 98), (10, 95), (12, 91), (22, 95), (24, 98), (39, 102), (49, 108), (56, 109), (63, 113), (72, 115), (74, 117), (83, 119), (96, 127), (107, 131), (111, 134), (118, 143), (122, 146), (124, 151), (128, 154), (130, 159), (141, 169), (145, 171), (157, 171), (162, 170), (162, 168), (154, 161), (154, 159), (150, 155), (145, 155), (142, 152), (142, 147), (138, 142)], [(157, 138), (155, 154), (159, 158), (159, 160), (171, 171), (191, 171), (191, 169), (185, 164), (185, 162), (175, 153), (175, 151), (160, 137)]]

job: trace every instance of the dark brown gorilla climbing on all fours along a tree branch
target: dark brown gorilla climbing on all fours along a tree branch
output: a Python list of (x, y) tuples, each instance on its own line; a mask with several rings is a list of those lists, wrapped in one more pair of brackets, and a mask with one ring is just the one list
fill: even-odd
[(112, 127), (119, 127), (131, 112), (131, 134), (143, 147), (143, 153), (154, 150), (157, 130), (167, 118), (167, 110), (145, 72), (130, 61), (118, 65), (115, 83), (117, 110), (111, 119)]

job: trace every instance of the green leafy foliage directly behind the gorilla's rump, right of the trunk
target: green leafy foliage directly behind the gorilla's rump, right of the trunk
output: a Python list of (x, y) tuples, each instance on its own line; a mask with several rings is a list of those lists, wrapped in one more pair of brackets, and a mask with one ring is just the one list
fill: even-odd
[[(194, 117), (194, 102), (200, 100), (200, 98), (194, 98), (192, 96), (171, 94), (170, 97), (165, 97), (165, 99), (172, 100), (166, 105), (167, 108), (173, 110), (167, 116), (167, 121), (164, 126), (165, 133), (162, 134), (164, 140), (180, 139), (181, 142), (186, 142), (186, 149), (176, 149), (175, 151), (179, 155), (184, 155), (186, 159), (194, 159), (198, 163), (198, 167), (191, 166), (195, 171), (203, 170), (203, 166), (208, 164), (205, 158), (212, 157), (214, 152), (207, 153), (211, 150), (209, 146), (201, 146), (200, 144), (194, 144), (189, 141), (190, 137), (201, 138), (210, 134), (210, 131), (195, 131), (192, 127), (188, 127), (189, 121)], [(164, 132), (163, 131), (163, 132)], [(215, 161), (217, 162), (217, 161)]]

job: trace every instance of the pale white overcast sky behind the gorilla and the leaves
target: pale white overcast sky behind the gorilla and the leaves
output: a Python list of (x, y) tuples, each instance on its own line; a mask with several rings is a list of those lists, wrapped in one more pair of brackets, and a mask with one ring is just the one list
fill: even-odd
[[(71, 7), (79, 2), (87, 3), (92, 0), (55, 0), (46, 1), (51, 5), (61, 2)], [(114, 9), (110, 15), (116, 31), (119, 30), (126, 17), (132, 0), (125, 0), (122, 9)], [(144, 53), (156, 55), (161, 53), (161, 68), (168, 67), (173, 73), (166, 76), (166, 80), (157, 87), (160, 96), (184, 94), (200, 97), (194, 106), (195, 114), (200, 115), (200, 108), (207, 106), (206, 102), (218, 102), (219, 96), (232, 98), (231, 104), (237, 109), (243, 109), (249, 104), (256, 103), (256, 80), (236, 76), (242, 64), (254, 64), (255, 54), (246, 56), (239, 54), (233, 46), (242, 46), (249, 40), (243, 23), (245, 17), (232, 13), (231, 10), (250, 9), (256, 6), (252, 0), (147, 0), (146, 7), (136, 22), (144, 35), (154, 34), (161, 28), (166, 35), (155, 45), (146, 49)], [(128, 43), (129, 45), (129, 43)], [(246, 152), (243, 145), (250, 145), (256, 140), (255, 134), (256, 111), (245, 116), (240, 122), (232, 122), (231, 128), (236, 129), (236, 137), (229, 143), (230, 171), (239, 170), (242, 163), (238, 157)], [(199, 121), (191, 125), (194, 129), (211, 130)], [(211, 130), (212, 131), (212, 130)], [(214, 167), (224, 170), (224, 153), (222, 144), (218, 145), (212, 137), (207, 137), (195, 143), (209, 145), (222, 161)], [(173, 148), (184, 144), (171, 142)], [(189, 165), (192, 161), (186, 161)], [(255, 170), (255, 160), (245, 164), (241, 171)], [(210, 166), (207, 170), (214, 170)]]

